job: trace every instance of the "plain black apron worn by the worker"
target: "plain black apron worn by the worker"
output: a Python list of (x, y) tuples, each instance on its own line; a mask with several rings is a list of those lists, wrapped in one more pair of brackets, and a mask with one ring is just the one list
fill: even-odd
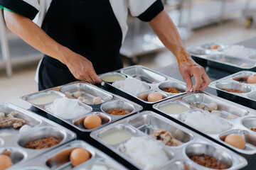
[[(109, 0), (53, 0), (42, 29), (61, 45), (86, 57), (102, 74), (123, 67), (119, 57), (122, 30)], [(68, 67), (45, 55), (38, 75), (38, 89), (77, 81)]]

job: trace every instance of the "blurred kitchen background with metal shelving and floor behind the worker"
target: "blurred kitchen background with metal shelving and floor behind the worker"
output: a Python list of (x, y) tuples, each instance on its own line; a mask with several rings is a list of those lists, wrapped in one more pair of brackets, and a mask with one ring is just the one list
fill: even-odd
[[(203, 42), (234, 44), (256, 36), (256, 0), (164, 0), (186, 47)], [(165, 67), (176, 58), (164, 48), (148, 23), (129, 16), (129, 32), (120, 53), (124, 67)], [(34, 80), (41, 52), (6, 28), (0, 13), (0, 101), (29, 105), (19, 96), (38, 91)]]

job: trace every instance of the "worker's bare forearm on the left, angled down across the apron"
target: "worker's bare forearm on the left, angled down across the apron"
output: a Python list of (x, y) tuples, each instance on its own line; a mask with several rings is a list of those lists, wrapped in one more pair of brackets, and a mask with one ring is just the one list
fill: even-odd
[(66, 64), (70, 60), (70, 56), (75, 55), (75, 52), (72, 52), (67, 47), (53, 40), (53, 38), (50, 38), (29, 18), (6, 10), (4, 10), (4, 18), (6, 25), (13, 33), (38, 51), (43, 52), (43, 54), (53, 57), (63, 62), (63, 64)]

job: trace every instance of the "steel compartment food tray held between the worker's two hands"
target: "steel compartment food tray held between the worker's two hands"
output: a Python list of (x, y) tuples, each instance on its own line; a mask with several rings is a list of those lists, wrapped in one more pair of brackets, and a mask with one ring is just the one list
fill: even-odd
[[(118, 77), (117, 79), (109, 79)], [(126, 98), (137, 99), (142, 106), (154, 104), (186, 93), (186, 84), (183, 81), (166, 77), (164, 74), (154, 72), (151, 69), (140, 65), (119, 69), (116, 72), (101, 74), (100, 79), (105, 81), (106, 86), (114, 87), (117, 94)], [(169, 93), (164, 89), (175, 88), (178, 93)], [(161, 94), (159, 101), (148, 101), (148, 96), (152, 92)]]

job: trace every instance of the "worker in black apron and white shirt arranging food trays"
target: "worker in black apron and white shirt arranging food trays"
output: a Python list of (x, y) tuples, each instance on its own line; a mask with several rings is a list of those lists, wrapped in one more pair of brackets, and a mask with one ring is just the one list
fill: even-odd
[(0, 7), (8, 28), (45, 54), (38, 67), (39, 90), (77, 80), (97, 84), (97, 74), (122, 68), (119, 49), (128, 30), (128, 11), (149, 22), (176, 56), (187, 91), (210, 84), (203, 67), (186, 51), (161, 0), (0, 0)]

